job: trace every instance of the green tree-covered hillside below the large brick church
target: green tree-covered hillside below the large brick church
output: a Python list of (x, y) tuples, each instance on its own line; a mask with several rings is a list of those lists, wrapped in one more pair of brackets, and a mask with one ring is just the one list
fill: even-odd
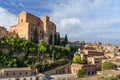
[(40, 40), (29, 42), (12, 36), (0, 40), (0, 68), (39, 67), (41, 72), (72, 60), (69, 45), (53, 46)]

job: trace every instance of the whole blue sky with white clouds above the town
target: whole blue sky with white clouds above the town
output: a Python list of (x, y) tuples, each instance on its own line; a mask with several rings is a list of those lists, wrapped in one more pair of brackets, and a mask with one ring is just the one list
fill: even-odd
[(21, 11), (48, 15), (71, 41), (120, 44), (120, 0), (0, 0), (0, 26), (9, 30)]

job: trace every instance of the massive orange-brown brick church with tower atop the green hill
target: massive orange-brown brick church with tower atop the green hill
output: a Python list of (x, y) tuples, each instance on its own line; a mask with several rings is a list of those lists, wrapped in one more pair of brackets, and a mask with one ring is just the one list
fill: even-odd
[(56, 25), (49, 20), (48, 16), (42, 19), (28, 12), (21, 12), (18, 15), (18, 24), (10, 27), (10, 32), (17, 33), (20, 38), (28, 41), (44, 39), (49, 41), (50, 35), (57, 35)]

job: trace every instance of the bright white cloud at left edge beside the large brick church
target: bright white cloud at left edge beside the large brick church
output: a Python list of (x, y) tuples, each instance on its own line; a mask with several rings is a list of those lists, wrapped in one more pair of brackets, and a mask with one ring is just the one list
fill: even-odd
[(0, 7), (0, 26), (5, 26), (9, 30), (10, 26), (15, 24), (17, 24), (17, 16)]

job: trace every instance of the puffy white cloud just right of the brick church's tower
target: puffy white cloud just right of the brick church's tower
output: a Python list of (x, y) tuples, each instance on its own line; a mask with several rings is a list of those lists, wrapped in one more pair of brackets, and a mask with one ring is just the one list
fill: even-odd
[(69, 35), (71, 37), (74, 37), (76, 32), (82, 30), (81, 25), (82, 25), (82, 22), (79, 19), (76, 19), (76, 18), (62, 19), (61, 22), (60, 22), (60, 25), (59, 25), (61, 27), (60, 32), (62, 34), (67, 34), (70, 31)]

